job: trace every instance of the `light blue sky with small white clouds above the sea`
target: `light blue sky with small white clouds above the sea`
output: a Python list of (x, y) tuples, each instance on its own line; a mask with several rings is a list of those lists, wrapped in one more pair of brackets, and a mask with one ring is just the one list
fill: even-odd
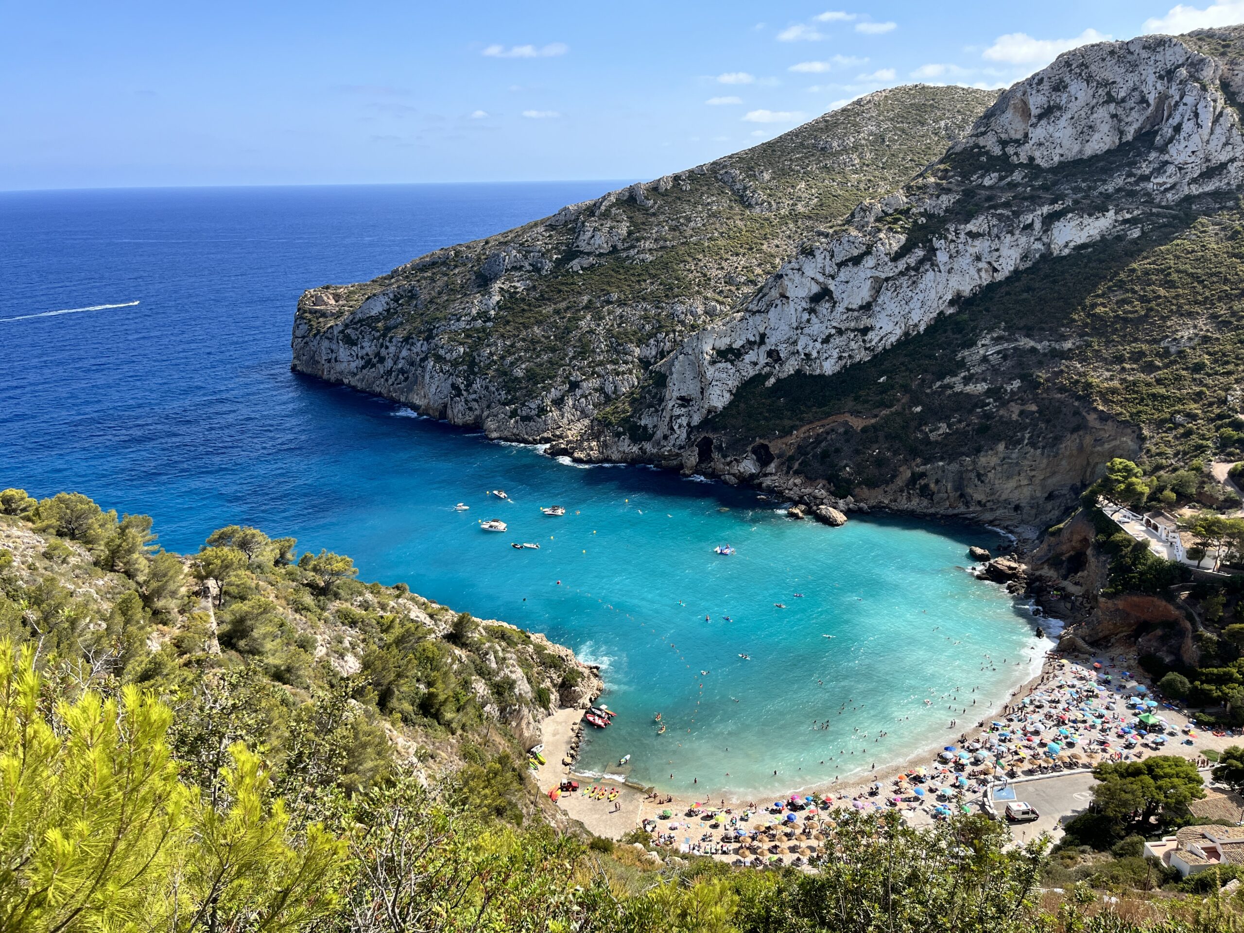
[(0, 190), (656, 178), (1244, 0), (0, 5)]

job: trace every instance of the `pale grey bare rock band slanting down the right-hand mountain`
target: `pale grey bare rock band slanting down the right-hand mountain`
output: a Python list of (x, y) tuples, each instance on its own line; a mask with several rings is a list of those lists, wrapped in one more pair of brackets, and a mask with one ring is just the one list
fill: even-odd
[(1066, 52), (1015, 85), (944, 170), (862, 204), (743, 312), (662, 363), (656, 445), (682, 447), (755, 376), (832, 374), (1042, 256), (1126, 235), (1154, 207), (1237, 189), (1244, 138), (1223, 90), (1233, 68), (1144, 36)]

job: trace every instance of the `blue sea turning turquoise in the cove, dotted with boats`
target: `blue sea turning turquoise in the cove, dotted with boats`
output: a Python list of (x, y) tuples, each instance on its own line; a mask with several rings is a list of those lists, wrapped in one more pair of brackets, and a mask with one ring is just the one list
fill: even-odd
[[(993, 532), (791, 521), (754, 493), (559, 463), (290, 372), (304, 289), (618, 184), (0, 193), (0, 488), (148, 513), (169, 550), (258, 525), (545, 632), (603, 666), (621, 713), (582, 764), (663, 789), (821, 785), (942, 744), (950, 707), (975, 722), (1037, 646), (963, 570)], [(490, 518), (509, 532), (480, 531)]]

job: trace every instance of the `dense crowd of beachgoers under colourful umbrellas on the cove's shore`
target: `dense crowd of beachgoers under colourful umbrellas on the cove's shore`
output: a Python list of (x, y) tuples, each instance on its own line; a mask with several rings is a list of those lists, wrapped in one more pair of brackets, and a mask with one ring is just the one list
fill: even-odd
[[(656, 846), (672, 852), (801, 865), (816, 856), (825, 821), (843, 807), (898, 810), (919, 825), (957, 810), (991, 810), (990, 787), (1015, 779), (1158, 753), (1195, 758), (1198, 748), (1234, 738), (1200, 733), (1133, 668), (1135, 658), (1123, 656), (1071, 661), (1050, 654), (1041, 674), (1015, 690), (996, 715), (958, 734), (929, 759), (916, 759), (918, 764), (878, 771), (861, 784), (759, 801), (652, 792), (639, 804), (638, 825)], [(621, 791), (601, 790), (587, 785), (577, 792), (601, 800), (612, 812), (621, 810), (613, 802)]]

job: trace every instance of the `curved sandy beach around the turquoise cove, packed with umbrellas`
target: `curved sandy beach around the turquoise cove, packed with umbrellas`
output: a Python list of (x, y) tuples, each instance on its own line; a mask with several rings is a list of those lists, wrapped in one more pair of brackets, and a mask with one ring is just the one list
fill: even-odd
[[(1142, 712), (1159, 717), (1161, 723), (1138, 722), (1136, 717)], [(613, 800), (586, 796), (582, 789), (600, 784), (600, 779), (580, 778), (572, 765), (562, 764), (570, 756), (581, 717), (582, 710), (566, 709), (544, 720), (546, 764), (536, 774), (541, 791), (549, 792), (564, 780), (577, 780), (581, 792), (560, 794), (557, 802), (593, 833), (616, 840), (649, 821), (649, 827), (657, 826), (653, 840), (672, 851), (703, 848), (723, 858), (740, 855), (748, 858), (749, 852), (739, 852), (733, 845), (733, 830), (768, 831), (781, 820), (789, 820), (790, 810), (775, 810), (773, 804), (789, 802), (792, 796), (802, 806), (806, 806), (806, 797), (815, 797), (822, 815), (826, 802), (830, 809), (897, 807), (904, 819), (921, 825), (938, 819), (952, 806), (979, 809), (990, 784), (1000, 782), (1006, 774), (1013, 779), (1036, 774), (1037, 763), (1050, 769), (1057, 761), (1059, 768), (1050, 773), (1066, 774), (1088, 769), (1098, 761), (1136, 760), (1153, 754), (1197, 759), (1204, 749), (1220, 750), (1240, 743), (1239, 735), (1214, 735), (1189, 725), (1184, 710), (1156, 695), (1153, 684), (1138, 669), (1135, 654), (1108, 653), (1092, 658), (1045, 654), (1040, 671), (1016, 687), (1000, 708), (982, 719), (958, 723), (962, 728), (947, 729), (944, 740), (931, 741), (902, 761), (878, 764), (867, 776), (815, 787), (778, 785), (770, 789), (771, 792), (758, 792), (749, 799), (713, 794), (709, 787), (699, 797), (661, 792), (659, 789), (646, 795), (642, 789), (616, 782), (606, 785), (616, 791)], [(954, 751), (944, 751), (947, 746)], [(1001, 769), (995, 761), (1001, 763)], [(904, 780), (898, 782), (901, 776)], [(880, 790), (875, 785), (880, 785)], [(916, 792), (917, 786), (921, 794)], [(953, 794), (942, 795), (940, 804), (934, 800), (938, 786), (953, 790)], [(939, 805), (944, 807), (942, 811), (935, 810)], [(720, 820), (709, 819), (708, 815), (718, 811)], [(743, 817), (745, 811), (750, 811), (746, 819)], [(801, 810), (796, 819), (806, 820), (806, 811)], [(807, 845), (815, 845), (811, 835), (806, 840)], [(765, 841), (768, 843), (769, 838)], [(790, 846), (779, 847), (776, 857), (791, 861), (795, 856), (789, 850), (794, 845), (791, 840)]]

